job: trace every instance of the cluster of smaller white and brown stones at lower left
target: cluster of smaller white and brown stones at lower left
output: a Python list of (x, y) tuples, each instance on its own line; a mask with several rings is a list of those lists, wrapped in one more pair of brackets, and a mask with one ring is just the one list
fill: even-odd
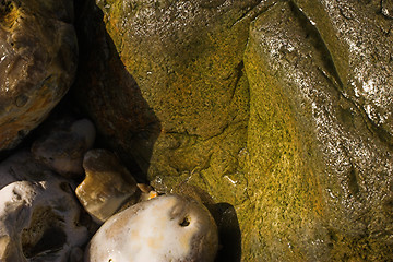
[(214, 261), (207, 209), (138, 183), (94, 141), (90, 120), (60, 121), (0, 163), (0, 261)]

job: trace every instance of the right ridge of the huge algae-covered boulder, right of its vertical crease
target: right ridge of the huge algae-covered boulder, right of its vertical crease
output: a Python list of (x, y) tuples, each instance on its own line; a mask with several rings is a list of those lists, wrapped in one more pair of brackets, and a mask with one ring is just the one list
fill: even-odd
[[(247, 261), (392, 258), (391, 126), (370, 115), (389, 119), (392, 109), (382, 81), (392, 70), (373, 53), (378, 46), (392, 53), (376, 29), (391, 21), (358, 3), (345, 3), (357, 24), (336, 20), (338, 7), (324, 4), (311, 19), (313, 7), (281, 2), (251, 25)], [(354, 51), (346, 41), (355, 36), (330, 35), (323, 25), (331, 24), (350, 27), (359, 41), (378, 37)]]

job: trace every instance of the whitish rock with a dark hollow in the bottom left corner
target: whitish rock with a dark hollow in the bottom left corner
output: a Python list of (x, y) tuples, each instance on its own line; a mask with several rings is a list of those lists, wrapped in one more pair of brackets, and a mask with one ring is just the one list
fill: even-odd
[(0, 164), (0, 261), (81, 261), (87, 240), (69, 182), (27, 152)]

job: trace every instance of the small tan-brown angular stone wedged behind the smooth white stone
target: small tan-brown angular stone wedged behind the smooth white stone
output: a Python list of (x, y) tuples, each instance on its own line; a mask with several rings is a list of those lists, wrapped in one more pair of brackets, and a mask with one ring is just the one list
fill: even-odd
[(76, 196), (97, 223), (104, 223), (123, 204), (132, 205), (141, 198), (135, 179), (114, 153), (91, 150), (83, 158), (83, 168), (86, 177), (78, 186)]

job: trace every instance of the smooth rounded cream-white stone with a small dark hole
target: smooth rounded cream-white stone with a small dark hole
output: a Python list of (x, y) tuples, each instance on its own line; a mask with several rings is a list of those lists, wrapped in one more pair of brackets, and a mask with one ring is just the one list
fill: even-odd
[(85, 262), (209, 262), (217, 247), (209, 211), (192, 199), (169, 194), (110, 217), (87, 246)]

